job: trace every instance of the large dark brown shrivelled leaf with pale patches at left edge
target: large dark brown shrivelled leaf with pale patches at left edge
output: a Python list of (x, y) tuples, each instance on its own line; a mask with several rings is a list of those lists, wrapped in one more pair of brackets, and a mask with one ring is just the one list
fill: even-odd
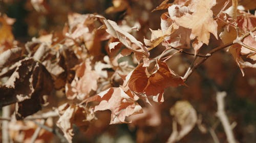
[(45, 67), (32, 58), (20, 60), (16, 65), (11, 77), (0, 87), (0, 106), (19, 102), (16, 118), (22, 119), (41, 108), (41, 104), (45, 103), (44, 96), (50, 95), (53, 85)]

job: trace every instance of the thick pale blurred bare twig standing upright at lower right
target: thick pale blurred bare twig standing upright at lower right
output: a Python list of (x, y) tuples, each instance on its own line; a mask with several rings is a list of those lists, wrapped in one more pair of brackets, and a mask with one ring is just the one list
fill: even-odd
[(226, 92), (217, 92), (216, 99), (218, 105), (217, 117), (220, 119), (225, 133), (227, 135), (227, 141), (229, 143), (236, 143), (236, 139), (234, 138), (234, 134), (232, 132), (232, 128), (228, 121), (227, 115), (224, 110), (224, 97), (226, 96)]

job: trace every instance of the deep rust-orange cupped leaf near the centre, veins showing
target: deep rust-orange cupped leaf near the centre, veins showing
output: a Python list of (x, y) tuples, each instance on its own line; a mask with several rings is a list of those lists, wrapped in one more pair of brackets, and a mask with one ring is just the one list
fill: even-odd
[(176, 76), (165, 62), (158, 61), (156, 71), (148, 73), (143, 63), (129, 75), (128, 86), (135, 93), (145, 93), (146, 96), (153, 96), (156, 102), (163, 102), (163, 91), (167, 87), (177, 87), (184, 84), (184, 81)]

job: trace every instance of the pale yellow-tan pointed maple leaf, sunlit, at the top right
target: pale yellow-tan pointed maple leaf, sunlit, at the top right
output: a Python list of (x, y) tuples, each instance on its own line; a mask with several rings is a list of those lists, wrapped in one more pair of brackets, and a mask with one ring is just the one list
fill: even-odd
[[(212, 18), (212, 6), (216, 4), (216, 1), (202, 1), (194, 0), (189, 5), (189, 10), (192, 14), (185, 13), (182, 17), (174, 18), (175, 22), (179, 26), (183, 26), (191, 29), (190, 39), (198, 39), (198, 42), (208, 45), (210, 33), (212, 33), (217, 39), (217, 22)], [(198, 49), (195, 49), (197, 52)]]

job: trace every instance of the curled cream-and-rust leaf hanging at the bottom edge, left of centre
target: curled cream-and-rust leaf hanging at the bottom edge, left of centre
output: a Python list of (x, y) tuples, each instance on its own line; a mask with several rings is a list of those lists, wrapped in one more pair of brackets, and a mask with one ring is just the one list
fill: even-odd
[(73, 124), (75, 124), (82, 132), (85, 132), (90, 121), (94, 119), (93, 112), (83, 106), (75, 104), (63, 104), (59, 107), (60, 117), (57, 126), (63, 131), (64, 136), (71, 143), (73, 138)]

